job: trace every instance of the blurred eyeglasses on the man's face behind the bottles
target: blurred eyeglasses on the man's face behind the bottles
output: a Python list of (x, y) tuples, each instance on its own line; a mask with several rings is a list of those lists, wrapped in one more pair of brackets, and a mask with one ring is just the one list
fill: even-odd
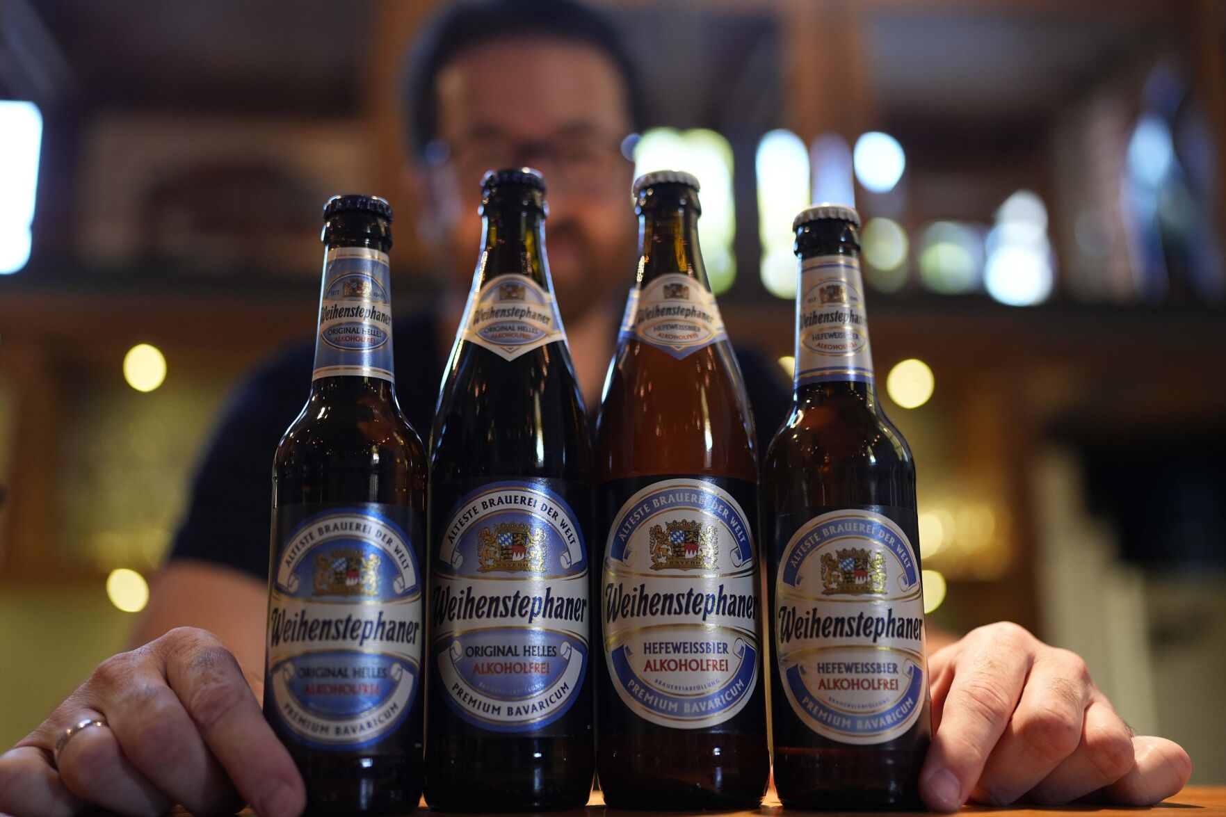
[(609, 195), (611, 182), (629, 161), (623, 150), (629, 140), (586, 130), (537, 141), (487, 132), (455, 142), (436, 139), (425, 146), (425, 161), (435, 167), (451, 163), (461, 180), (472, 179), (473, 191), (485, 171), (532, 167), (541, 171), (550, 190)]

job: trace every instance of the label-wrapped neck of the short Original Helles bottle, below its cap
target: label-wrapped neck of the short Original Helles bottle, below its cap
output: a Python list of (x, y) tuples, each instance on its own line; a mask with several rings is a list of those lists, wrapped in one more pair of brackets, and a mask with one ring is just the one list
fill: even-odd
[(313, 396), (395, 394), (389, 245), (378, 236), (326, 245)]

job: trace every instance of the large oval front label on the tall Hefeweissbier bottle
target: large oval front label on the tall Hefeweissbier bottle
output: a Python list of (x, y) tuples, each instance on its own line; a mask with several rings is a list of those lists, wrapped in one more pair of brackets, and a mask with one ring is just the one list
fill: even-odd
[(613, 518), (601, 613), (613, 688), (639, 716), (704, 729), (758, 683), (753, 527), (731, 493), (699, 478), (653, 482)]

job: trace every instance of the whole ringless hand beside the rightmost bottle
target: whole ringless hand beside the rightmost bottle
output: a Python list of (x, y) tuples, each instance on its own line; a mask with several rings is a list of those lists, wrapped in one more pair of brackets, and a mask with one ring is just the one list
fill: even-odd
[(1085, 661), (1018, 624), (971, 631), (929, 658), (933, 741), (920, 791), (935, 811), (967, 800), (1148, 806), (1178, 792), (1178, 743), (1133, 735)]

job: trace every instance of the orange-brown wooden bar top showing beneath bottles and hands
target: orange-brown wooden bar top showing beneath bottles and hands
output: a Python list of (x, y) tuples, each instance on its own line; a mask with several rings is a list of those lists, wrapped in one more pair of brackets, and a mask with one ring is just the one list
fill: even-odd
[[(424, 806), (424, 804), (423, 804)], [(1119, 815), (1121, 817), (1137, 817), (1139, 812), (1146, 811), (1167, 811), (1175, 808), (1190, 808), (1195, 812), (1188, 812), (1187, 817), (1226, 817), (1226, 786), (1188, 786), (1179, 794), (1175, 795), (1170, 800), (1166, 800), (1152, 808), (1122, 808), (1118, 806), (1101, 806), (1095, 804), (1076, 804), (1072, 806), (1019, 806), (1009, 808), (986, 808), (982, 806), (964, 806), (962, 813), (971, 812), (992, 812), (993, 815), (1002, 815), (1008, 817), (1024, 817), (1026, 815), (1035, 815), (1042, 817), (1054, 817), (1060, 812), (1068, 813), (1086, 813), (1092, 812), (1095, 817), (1112, 817)], [(424, 808), (423, 808), (424, 811)], [(186, 811), (181, 808), (174, 812), (177, 816), (184, 817), (188, 815)], [(422, 812), (418, 812), (422, 813)], [(441, 812), (440, 812), (441, 813)], [(454, 813), (454, 812), (449, 812)], [(651, 817), (651, 815), (668, 815), (668, 813), (695, 813), (695, 812), (650, 812), (650, 811), (623, 811), (614, 808), (606, 808), (604, 802), (601, 800), (600, 792), (592, 795), (591, 802), (587, 804), (586, 808), (580, 808), (576, 811), (552, 811), (548, 812), (552, 817), (566, 817), (566, 815), (581, 815), (585, 817), (601, 815), (603, 817), (612, 817), (613, 815), (623, 815), (624, 817)], [(824, 815), (829, 817), (830, 815), (843, 813), (848, 817), (863, 817), (863, 812), (805, 812), (805, 811), (783, 811), (779, 805), (779, 797), (775, 796), (775, 790), (771, 789), (766, 792), (766, 800), (763, 807), (758, 811), (725, 811), (718, 812), (725, 817), (737, 817), (738, 815), (779, 815), (781, 817), (788, 815)], [(906, 812), (889, 812), (895, 817), (900, 817)], [(917, 815), (928, 815), (929, 812), (915, 812)], [(253, 816), (255, 812), (244, 811), (243, 815)], [(929, 816), (931, 817), (931, 816)], [(1167, 812), (1162, 817), (1176, 817), (1175, 813)]]

